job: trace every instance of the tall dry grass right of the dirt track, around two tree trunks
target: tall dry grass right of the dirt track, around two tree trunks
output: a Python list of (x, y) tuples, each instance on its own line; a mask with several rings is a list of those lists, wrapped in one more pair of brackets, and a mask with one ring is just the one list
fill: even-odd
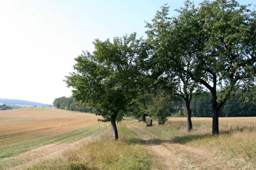
[[(143, 127), (143, 123), (137, 123)], [(167, 122), (146, 128), (148, 132), (170, 143), (208, 150), (236, 164), (241, 169), (256, 169), (256, 126), (227, 125), (221, 123), (220, 134), (212, 136), (211, 123), (193, 123), (193, 130), (186, 130), (186, 122)]]

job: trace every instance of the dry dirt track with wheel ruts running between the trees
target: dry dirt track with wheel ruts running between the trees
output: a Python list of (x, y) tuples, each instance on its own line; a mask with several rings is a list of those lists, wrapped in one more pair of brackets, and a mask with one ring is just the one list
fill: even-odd
[(224, 170), (239, 169), (223, 157), (201, 148), (175, 144), (162, 139), (145, 128), (126, 122), (128, 128), (145, 142), (149, 152), (160, 158), (168, 170)]

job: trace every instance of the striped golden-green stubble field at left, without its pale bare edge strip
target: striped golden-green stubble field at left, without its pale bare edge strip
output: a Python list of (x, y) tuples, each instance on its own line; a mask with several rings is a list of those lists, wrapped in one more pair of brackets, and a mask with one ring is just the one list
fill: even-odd
[[(91, 113), (47, 107), (0, 111), (0, 164), (7, 157), (36, 147), (73, 142), (98, 133), (107, 125), (97, 122), (98, 118)], [(66, 144), (57, 145), (67, 147)]]

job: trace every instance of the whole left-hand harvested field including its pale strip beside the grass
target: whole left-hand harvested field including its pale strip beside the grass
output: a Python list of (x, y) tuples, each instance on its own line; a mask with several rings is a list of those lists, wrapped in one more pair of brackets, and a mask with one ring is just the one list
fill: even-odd
[(90, 141), (87, 136), (106, 127), (97, 118), (90, 113), (55, 108), (0, 111), (0, 169), (26, 169)]

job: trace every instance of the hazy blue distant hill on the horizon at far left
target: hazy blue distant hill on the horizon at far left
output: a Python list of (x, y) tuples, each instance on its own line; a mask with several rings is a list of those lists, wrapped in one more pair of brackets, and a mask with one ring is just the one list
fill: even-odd
[(18, 99), (0, 99), (0, 103), (4, 103), (6, 105), (26, 105), (26, 106), (46, 106), (49, 107), (49, 104), (43, 104), (38, 102), (30, 102), (26, 100), (18, 100)]

